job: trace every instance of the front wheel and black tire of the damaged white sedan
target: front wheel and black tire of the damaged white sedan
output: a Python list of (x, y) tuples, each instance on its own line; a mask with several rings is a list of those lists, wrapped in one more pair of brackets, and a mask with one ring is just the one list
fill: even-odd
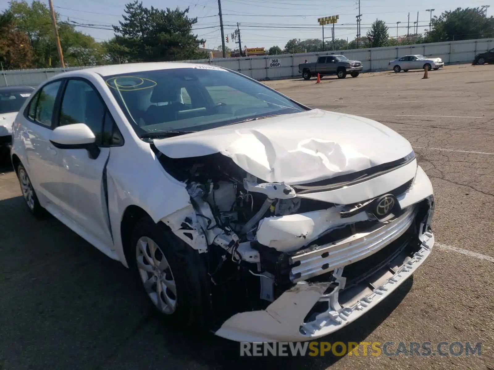
[(151, 219), (135, 226), (128, 247), (129, 267), (164, 320), (177, 327), (202, 325), (209, 279), (197, 251)]

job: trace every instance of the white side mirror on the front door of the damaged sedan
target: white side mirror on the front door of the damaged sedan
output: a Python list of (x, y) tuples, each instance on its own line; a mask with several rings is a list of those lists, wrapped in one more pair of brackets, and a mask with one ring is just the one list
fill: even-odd
[(50, 143), (59, 149), (86, 149), (91, 159), (96, 159), (100, 153), (96, 145), (96, 137), (85, 123), (55, 128), (51, 134)]

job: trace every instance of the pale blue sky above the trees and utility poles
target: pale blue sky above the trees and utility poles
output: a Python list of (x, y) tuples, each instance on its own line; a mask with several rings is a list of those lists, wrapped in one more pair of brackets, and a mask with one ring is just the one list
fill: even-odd
[[(30, 0), (28, 0), (30, 1)], [(43, 0), (47, 3), (47, 0)], [(62, 15), (62, 20), (69, 18), (81, 24), (92, 24), (93, 27), (109, 28), (122, 19), (125, 3), (129, 0), (53, 0), (55, 10)], [(143, 0), (144, 6), (158, 8), (190, 7), (190, 16), (198, 17), (194, 26), (195, 33), (206, 39), (206, 47), (215, 48), (221, 45), (217, 0)], [(242, 47), (270, 47), (279, 45), (283, 48), (291, 38), (321, 38), (322, 28), (317, 18), (339, 14), (335, 26), (336, 38), (352, 40), (356, 36), (356, 15), (358, 0), (221, 0), (225, 35), (230, 35), (240, 23)], [(0, 8), (8, 7), (6, 0), (0, 0)], [(396, 22), (401, 22), (398, 35), (407, 35), (408, 13), (410, 12), (410, 32), (413, 22), (417, 20), (421, 33), (428, 28), (429, 12), (425, 9), (434, 8), (433, 15), (440, 15), (444, 10), (456, 7), (477, 7), (494, 5), (494, 0), (479, 0), (465, 3), (460, 0), (436, 0), (431, 4), (426, 0), (391, 1), (361, 0), (362, 14), (361, 34), (365, 36), (367, 28), (376, 19), (382, 19), (390, 28), (390, 36), (396, 37)], [(494, 6), (488, 9), (488, 16), (494, 12)], [(79, 28), (98, 41), (113, 37), (113, 31), (98, 28)], [(325, 38), (330, 36), (329, 26), (325, 27)], [(235, 46), (230, 39), (227, 46)]]

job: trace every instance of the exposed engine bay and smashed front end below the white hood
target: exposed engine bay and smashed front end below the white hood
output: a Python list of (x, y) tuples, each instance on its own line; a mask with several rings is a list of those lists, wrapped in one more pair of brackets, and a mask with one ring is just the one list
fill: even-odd
[[(155, 152), (190, 195), (194, 215), (173, 231), (206, 252), (218, 322), (264, 310), (299, 282), (329, 284), (326, 293), (358, 285), (390, 256), (413, 256), (421, 244), (418, 235), (429, 227), (432, 200), (407, 209), (396, 200), (379, 217), (370, 207), (383, 197), (333, 204), (297, 196), (298, 185), (265, 183), (219, 153), (177, 159)], [(409, 193), (413, 180), (387, 195), (397, 199)], [(198, 240), (205, 245), (202, 250)], [(309, 316), (315, 320), (317, 312)]]

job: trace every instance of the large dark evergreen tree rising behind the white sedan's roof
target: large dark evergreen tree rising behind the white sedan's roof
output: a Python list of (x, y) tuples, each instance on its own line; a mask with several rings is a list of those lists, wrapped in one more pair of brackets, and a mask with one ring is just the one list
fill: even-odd
[(197, 18), (189, 8), (146, 8), (137, 0), (125, 5), (124, 20), (114, 26), (115, 43), (129, 62), (158, 62), (206, 58), (198, 47), (206, 42), (192, 33)]

